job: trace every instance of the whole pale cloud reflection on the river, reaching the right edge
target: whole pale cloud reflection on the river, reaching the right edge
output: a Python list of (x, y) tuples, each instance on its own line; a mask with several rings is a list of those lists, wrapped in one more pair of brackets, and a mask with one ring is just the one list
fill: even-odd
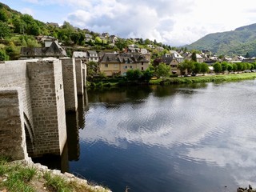
[(229, 85), (225, 94), (222, 86), (208, 86), (210, 90), (194, 94), (185, 91), (164, 98), (150, 94), (145, 102), (111, 109), (94, 104), (80, 138), (122, 149), (129, 143), (180, 149), (180, 158), (226, 167), (238, 185), (247, 186), (250, 181), (255, 186), (255, 87)]

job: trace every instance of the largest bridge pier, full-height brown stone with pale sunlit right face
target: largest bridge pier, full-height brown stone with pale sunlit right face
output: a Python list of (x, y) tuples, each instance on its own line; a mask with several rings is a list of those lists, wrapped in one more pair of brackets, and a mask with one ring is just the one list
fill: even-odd
[(59, 60), (27, 62), (34, 118), (34, 154), (61, 154), (66, 142), (62, 66)]

